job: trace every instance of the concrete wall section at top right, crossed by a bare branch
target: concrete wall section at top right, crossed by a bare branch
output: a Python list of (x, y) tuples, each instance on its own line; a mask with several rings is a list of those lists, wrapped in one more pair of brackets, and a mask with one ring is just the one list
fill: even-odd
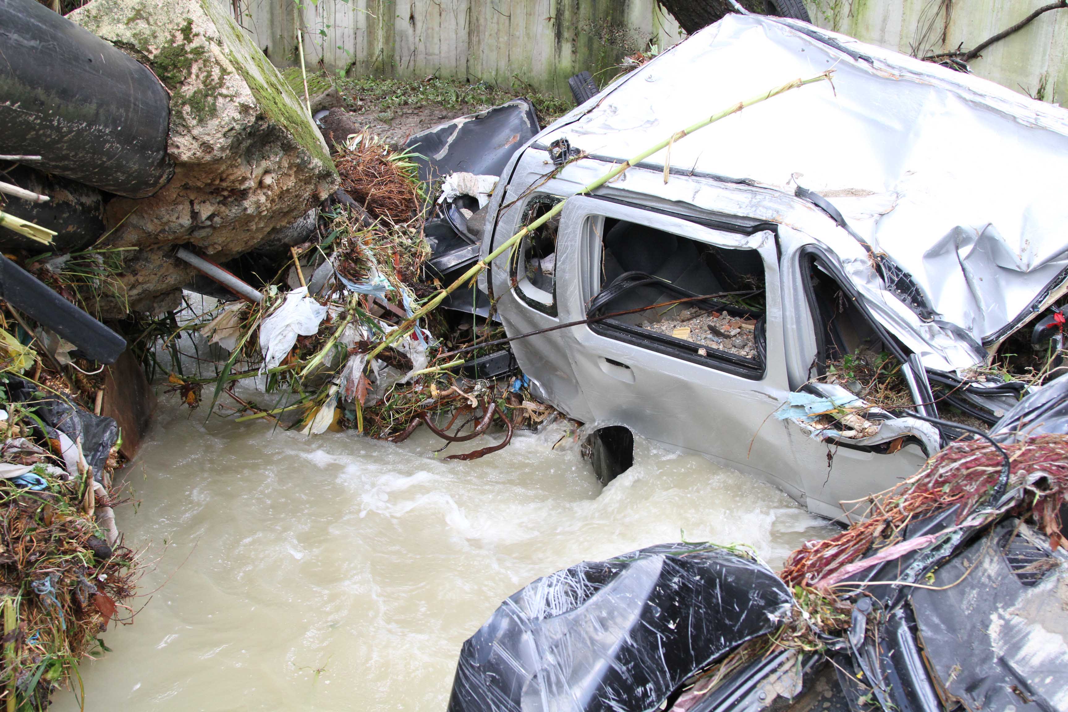
[[(816, 25), (914, 57), (968, 50), (1050, 0), (805, 0)], [(1068, 99), (1068, 10), (991, 45), (972, 70), (1047, 101)]]

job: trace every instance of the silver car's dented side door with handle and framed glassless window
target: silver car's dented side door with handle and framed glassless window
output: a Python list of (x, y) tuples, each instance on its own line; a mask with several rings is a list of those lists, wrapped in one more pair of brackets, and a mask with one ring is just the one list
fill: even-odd
[[(562, 253), (585, 271), (578, 288), (562, 295), (560, 310), (564, 320), (582, 319), (591, 305), (597, 306), (599, 294), (634, 279), (627, 276), (633, 273), (647, 275), (638, 281), (654, 281), (610, 295), (602, 316), (692, 300), (694, 295), (721, 295), (704, 303), (682, 301), (566, 330), (571, 367), (593, 421), (626, 425), (646, 438), (759, 474), (803, 500), (791, 444), (783, 440), (782, 427), (765, 424), (789, 391), (774, 234), (765, 227), (739, 224), (737, 232), (728, 232), (632, 205), (571, 199), (561, 221), (560, 241), (566, 246)], [(717, 279), (726, 270), (705, 269), (713, 259), (707, 255), (716, 251), (760, 275), (763, 284), (752, 286), (763, 289), (763, 304), (750, 300), (747, 314), (744, 299), (734, 302), (737, 308), (724, 301), (739, 296), (725, 292), (744, 290)], [(695, 323), (698, 319), (679, 321), (693, 306), (720, 314), (720, 321), (724, 314), (737, 316), (727, 321), (736, 327), (713, 327), (718, 333), (709, 330), (707, 336), (693, 329), (686, 335), (658, 329), (664, 317), (678, 317), (669, 323)], [(708, 329), (710, 321), (702, 325)], [(747, 334), (736, 336), (735, 331)], [(742, 350), (750, 338), (755, 349)]]

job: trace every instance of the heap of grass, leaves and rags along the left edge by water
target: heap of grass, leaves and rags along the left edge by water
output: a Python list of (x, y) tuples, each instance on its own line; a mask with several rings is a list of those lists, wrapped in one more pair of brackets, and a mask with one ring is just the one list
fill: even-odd
[(124, 502), (112, 486), (120, 428), (100, 414), (122, 366), (93, 373), (85, 359), (58, 358), (45, 344), (60, 337), (6, 311), (16, 318), (0, 317), (0, 700), (38, 710), (107, 650), (109, 622), (132, 619), (140, 561), (113, 511)]

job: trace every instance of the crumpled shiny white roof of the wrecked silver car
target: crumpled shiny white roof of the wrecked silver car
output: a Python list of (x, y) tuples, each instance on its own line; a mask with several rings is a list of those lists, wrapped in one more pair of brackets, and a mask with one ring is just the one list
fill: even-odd
[[(1058, 194), (1068, 171), (1068, 113), (1061, 108), (807, 25), (728, 15), (536, 141), (567, 138), (586, 154), (623, 161), (635, 146), (755, 91), (828, 69), (833, 86), (787, 92), (687, 137), (672, 146), (671, 165), (781, 191), (790, 203), (783, 215), (795, 218), (801, 211), (796, 188), (819, 193), (857, 235), (912, 274), (938, 313), (933, 321), (944, 322), (929, 343), (945, 353), (917, 348), (924, 364), (972, 365), (977, 344), (1018, 326), (1068, 276), (1062, 230), (1068, 204)], [(664, 160), (661, 152), (650, 162), (662, 168)], [(707, 203), (700, 200), (701, 181), (641, 183), (648, 194)], [(808, 234), (828, 241), (826, 231)], [(874, 289), (874, 270), (849, 264), (866, 255), (846, 241), (828, 247), (847, 263), (851, 279)], [(900, 312), (886, 303), (880, 308)], [(886, 316), (913, 321), (906, 331), (929, 331), (904, 314)]]

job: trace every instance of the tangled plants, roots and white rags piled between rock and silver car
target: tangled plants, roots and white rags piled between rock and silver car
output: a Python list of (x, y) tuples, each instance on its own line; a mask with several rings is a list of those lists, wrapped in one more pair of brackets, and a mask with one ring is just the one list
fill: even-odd
[[(493, 122), (501, 110), (521, 114), (528, 131), (536, 130), (529, 102), (487, 112), (496, 116), (491, 130), (500, 130)], [(367, 130), (340, 142), (331, 135), (342, 188), (321, 206), (309, 239), (290, 248), (286, 259), (240, 271), (258, 278), (255, 288), (231, 275), (229, 286), (236, 285), (244, 301), (230, 296), (180, 323), (142, 320), (138, 342), (166, 371), (170, 390), (195, 408), (203, 387), (214, 386), (214, 411), (239, 421), (266, 417), (308, 434), (351, 428), (400, 441), (426, 425), (443, 440), (466, 442), (494, 424), (503, 429), (499, 443), (453, 459), (501, 449), (516, 428), (550, 417), (554, 411), (531, 395), (511, 352), (482, 346), (503, 336), (488, 310), (467, 305), (414, 318), (452, 279), (443, 263), (457, 244), (466, 262), (454, 270), (476, 259), (477, 244), (465, 242), (461, 233), (469, 233), (468, 221), (474, 222), (497, 181), (496, 175), (450, 171), (449, 162), (457, 160), (451, 152), (431, 161), (424, 155), (429, 152), (414, 147), (451, 142), (451, 132), (464, 127), (484, 130), (485, 115), (472, 118), (434, 127), (407, 146), (389, 145)], [(482, 145), (476, 151), (499, 164), (507, 158)], [(398, 329), (410, 333), (382, 347)], [(153, 347), (158, 335), (163, 346)], [(192, 364), (186, 344), (194, 351)], [(237, 390), (252, 378), (261, 379), (260, 390)]]

